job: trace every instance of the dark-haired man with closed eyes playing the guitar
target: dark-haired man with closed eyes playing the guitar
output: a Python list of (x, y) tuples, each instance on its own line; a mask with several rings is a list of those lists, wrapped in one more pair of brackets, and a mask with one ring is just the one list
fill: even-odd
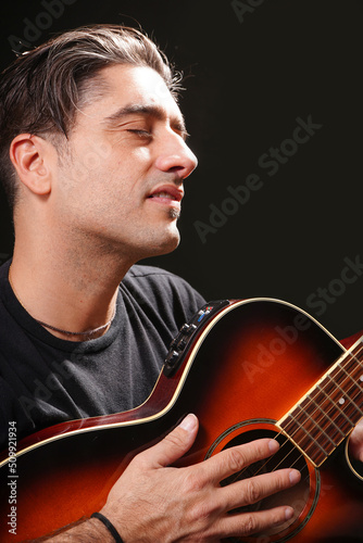
[[(197, 160), (176, 91), (155, 46), (121, 27), (64, 34), (5, 71), (1, 167), (15, 229), (0, 278), (5, 429), (16, 420), (24, 435), (138, 405), (165, 345), (203, 303), (182, 279), (134, 266), (179, 241), (184, 179)], [(293, 485), (295, 469), (218, 484), (276, 451), (273, 440), (168, 468), (197, 431), (189, 415), (132, 462), (101, 517), (54, 541), (217, 541), (291, 518), (289, 506), (228, 510)]]

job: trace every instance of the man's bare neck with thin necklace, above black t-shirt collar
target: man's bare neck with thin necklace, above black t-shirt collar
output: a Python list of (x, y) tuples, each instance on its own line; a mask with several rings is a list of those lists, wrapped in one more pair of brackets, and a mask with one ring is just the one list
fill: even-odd
[[(61, 339), (85, 341), (105, 333), (129, 265), (121, 260), (115, 263), (115, 255), (40, 254), (15, 243), (10, 279), (24, 308), (42, 326), (50, 325), (45, 328)], [(95, 329), (91, 334), (78, 333)]]

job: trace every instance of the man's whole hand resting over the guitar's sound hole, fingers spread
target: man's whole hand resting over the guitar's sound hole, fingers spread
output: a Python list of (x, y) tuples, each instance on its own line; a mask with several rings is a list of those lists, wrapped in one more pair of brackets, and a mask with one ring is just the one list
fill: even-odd
[(125, 543), (212, 542), (247, 535), (292, 517), (289, 506), (254, 513), (228, 510), (292, 487), (300, 480), (296, 469), (220, 485), (226, 477), (276, 452), (276, 441), (258, 440), (197, 465), (170, 467), (191, 447), (197, 431), (197, 418), (188, 415), (160, 443), (137, 455), (111, 490), (101, 513)]

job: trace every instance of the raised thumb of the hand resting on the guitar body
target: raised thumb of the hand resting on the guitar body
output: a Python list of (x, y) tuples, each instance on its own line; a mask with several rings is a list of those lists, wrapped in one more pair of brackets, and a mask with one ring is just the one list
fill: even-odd
[(189, 451), (198, 432), (198, 418), (187, 415), (162, 441), (148, 451), (149, 462), (155, 468), (166, 467)]

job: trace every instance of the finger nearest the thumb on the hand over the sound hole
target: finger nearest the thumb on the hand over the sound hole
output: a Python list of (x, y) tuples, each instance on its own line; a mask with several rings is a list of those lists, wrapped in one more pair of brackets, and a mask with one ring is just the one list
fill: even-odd
[(201, 470), (200, 475), (204, 475), (205, 480), (213, 480), (214, 483), (220, 483), (223, 479), (237, 473), (243, 467), (267, 458), (276, 453), (278, 449), (279, 445), (275, 440), (255, 440), (222, 451), (204, 463), (199, 464), (198, 468)]

